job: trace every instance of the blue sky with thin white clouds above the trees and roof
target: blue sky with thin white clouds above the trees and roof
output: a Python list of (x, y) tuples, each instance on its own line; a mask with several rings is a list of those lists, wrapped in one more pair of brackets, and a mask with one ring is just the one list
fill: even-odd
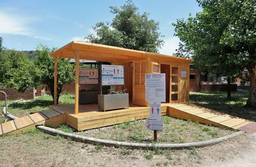
[[(188, 18), (202, 9), (196, 0), (134, 0), (139, 12), (159, 22), (163, 35), (161, 54), (172, 55), (179, 46), (172, 22)], [(15, 50), (35, 50), (38, 43), (62, 47), (70, 41), (86, 41), (97, 22), (111, 22), (115, 15), (109, 6), (122, 6), (125, 0), (1, 0), (0, 36), (3, 46)]]

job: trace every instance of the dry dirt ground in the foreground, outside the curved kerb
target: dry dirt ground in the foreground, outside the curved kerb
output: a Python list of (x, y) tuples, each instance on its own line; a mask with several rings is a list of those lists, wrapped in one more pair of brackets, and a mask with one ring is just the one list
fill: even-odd
[(129, 150), (41, 131), (0, 137), (0, 166), (256, 166), (256, 134), (189, 150)]

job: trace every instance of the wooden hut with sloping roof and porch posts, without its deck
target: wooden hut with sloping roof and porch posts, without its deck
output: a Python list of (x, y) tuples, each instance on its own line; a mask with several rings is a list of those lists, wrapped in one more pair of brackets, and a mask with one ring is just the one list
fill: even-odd
[[(111, 62), (124, 65), (125, 85), (127, 85), (133, 105), (148, 106), (145, 101), (145, 73), (166, 73), (166, 103), (189, 100), (190, 60), (170, 55), (155, 54), (83, 41), (72, 41), (52, 52), (54, 64), (54, 105), (57, 105), (58, 59), (76, 60), (75, 110), (79, 113), (79, 60)], [(182, 76), (183, 75), (183, 76)]]

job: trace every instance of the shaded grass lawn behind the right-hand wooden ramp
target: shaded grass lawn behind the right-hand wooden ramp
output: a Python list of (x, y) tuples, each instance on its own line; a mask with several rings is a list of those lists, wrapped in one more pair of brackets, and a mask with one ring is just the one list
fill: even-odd
[(256, 110), (244, 107), (248, 98), (246, 90), (239, 89), (237, 92), (232, 92), (231, 99), (227, 99), (227, 92), (190, 92), (189, 94), (190, 102), (195, 105), (256, 121)]

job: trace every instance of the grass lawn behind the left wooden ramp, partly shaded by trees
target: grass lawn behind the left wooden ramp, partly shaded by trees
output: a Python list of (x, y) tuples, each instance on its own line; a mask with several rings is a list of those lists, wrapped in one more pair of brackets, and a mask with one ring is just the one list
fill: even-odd
[[(11, 102), (12, 101), (8, 101), (8, 103)], [(60, 96), (61, 104), (74, 104), (74, 102), (74, 94), (63, 94)], [(1, 104), (3, 105), (3, 101), (1, 101)], [(46, 95), (29, 102), (12, 103), (8, 107), (8, 112), (12, 113), (12, 115), (15, 115), (16, 117), (22, 117), (24, 115), (28, 115), (29, 113), (49, 110), (49, 105), (53, 105), (52, 96)]]

